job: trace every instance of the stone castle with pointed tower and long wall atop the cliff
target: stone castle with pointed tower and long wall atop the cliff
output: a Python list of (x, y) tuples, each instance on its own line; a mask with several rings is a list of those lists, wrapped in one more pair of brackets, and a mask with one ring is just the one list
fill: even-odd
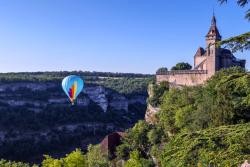
[(159, 71), (156, 73), (157, 82), (168, 81), (174, 86), (195, 86), (203, 84), (221, 68), (232, 66), (245, 68), (246, 60), (239, 60), (230, 50), (217, 47), (215, 44), (218, 41), (221, 41), (221, 35), (213, 15), (210, 29), (206, 35), (206, 48), (198, 48), (194, 55), (194, 68), (192, 70)]

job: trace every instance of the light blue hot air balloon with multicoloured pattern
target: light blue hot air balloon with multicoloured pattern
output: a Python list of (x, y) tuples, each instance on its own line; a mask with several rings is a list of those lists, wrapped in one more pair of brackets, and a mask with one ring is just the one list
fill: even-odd
[(69, 97), (72, 105), (74, 105), (74, 101), (76, 97), (81, 93), (83, 87), (84, 82), (79, 76), (70, 75), (62, 80), (62, 88), (66, 95)]

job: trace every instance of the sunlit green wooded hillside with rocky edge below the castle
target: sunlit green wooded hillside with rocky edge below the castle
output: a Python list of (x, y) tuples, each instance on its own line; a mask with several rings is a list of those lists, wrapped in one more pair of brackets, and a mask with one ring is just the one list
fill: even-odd
[(229, 166), (250, 160), (250, 75), (233, 67), (206, 84), (151, 85), (147, 121), (117, 148), (126, 167)]

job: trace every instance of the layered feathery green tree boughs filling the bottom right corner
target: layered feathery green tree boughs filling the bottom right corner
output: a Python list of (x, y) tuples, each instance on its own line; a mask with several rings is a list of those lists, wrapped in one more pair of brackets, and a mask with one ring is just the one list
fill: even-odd
[(250, 124), (180, 133), (165, 145), (162, 166), (238, 166), (250, 159)]

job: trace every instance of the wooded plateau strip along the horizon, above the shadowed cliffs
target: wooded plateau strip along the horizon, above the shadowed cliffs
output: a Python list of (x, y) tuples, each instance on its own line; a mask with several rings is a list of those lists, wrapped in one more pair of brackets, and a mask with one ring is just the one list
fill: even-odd
[(0, 82), (61, 82), (68, 75), (78, 75), (84, 79), (87, 85), (102, 85), (122, 94), (135, 92), (145, 94), (147, 82), (153, 80), (154, 76), (149, 74), (89, 71), (18, 72), (0, 73)]

